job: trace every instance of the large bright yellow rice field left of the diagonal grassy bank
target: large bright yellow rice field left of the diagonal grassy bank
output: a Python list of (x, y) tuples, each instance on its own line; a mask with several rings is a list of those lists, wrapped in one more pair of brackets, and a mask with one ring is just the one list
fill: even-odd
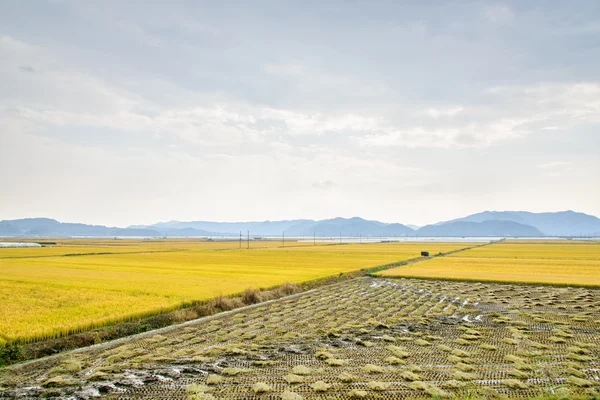
[(0, 249), (0, 342), (57, 337), (249, 287), (301, 283), (408, 260), (421, 250), (447, 252), (469, 244), (294, 242), (281, 248), (280, 242), (261, 241), (251, 246), (70, 240), (54, 247)]

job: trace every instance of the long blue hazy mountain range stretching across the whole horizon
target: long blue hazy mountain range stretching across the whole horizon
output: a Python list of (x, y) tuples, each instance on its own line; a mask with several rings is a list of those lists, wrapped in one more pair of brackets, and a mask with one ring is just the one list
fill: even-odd
[[(600, 219), (574, 211), (484, 211), (414, 229), (363, 218), (263, 222), (170, 221), (114, 228), (62, 223), (48, 218), (0, 221), (0, 236), (600, 236)], [(415, 227), (416, 228), (416, 227)]]

